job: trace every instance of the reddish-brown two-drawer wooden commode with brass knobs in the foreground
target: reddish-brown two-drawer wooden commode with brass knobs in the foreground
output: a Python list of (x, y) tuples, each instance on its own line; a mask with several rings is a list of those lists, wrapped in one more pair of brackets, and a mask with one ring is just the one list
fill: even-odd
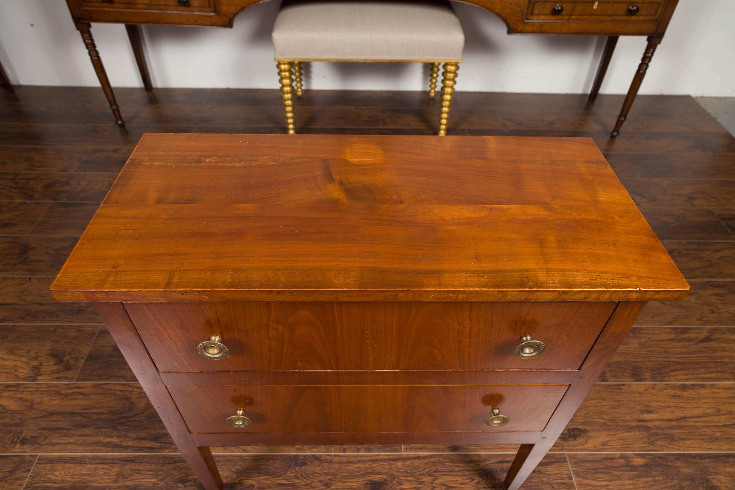
[(520, 444), (517, 489), (649, 300), (689, 292), (587, 138), (146, 134), (51, 286), (184, 458)]

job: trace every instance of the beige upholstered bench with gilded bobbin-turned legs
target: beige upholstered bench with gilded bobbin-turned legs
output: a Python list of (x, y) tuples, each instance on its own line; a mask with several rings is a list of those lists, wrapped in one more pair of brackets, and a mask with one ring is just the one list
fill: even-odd
[(449, 1), (285, 1), (273, 25), (273, 48), (289, 134), (294, 89), (303, 93), (301, 63), (431, 63), (429, 96), (444, 63), (439, 134), (447, 131), (465, 34)]

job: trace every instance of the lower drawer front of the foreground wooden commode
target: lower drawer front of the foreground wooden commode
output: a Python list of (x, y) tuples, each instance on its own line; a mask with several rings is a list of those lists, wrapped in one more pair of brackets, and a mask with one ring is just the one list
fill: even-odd
[[(169, 388), (192, 433), (537, 432), (566, 390), (567, 385)], [(508, 417), (505, 425), (487, 425), (493, 407)], [(248, 422), (235, 428), (226, 420), (238, 408)]]

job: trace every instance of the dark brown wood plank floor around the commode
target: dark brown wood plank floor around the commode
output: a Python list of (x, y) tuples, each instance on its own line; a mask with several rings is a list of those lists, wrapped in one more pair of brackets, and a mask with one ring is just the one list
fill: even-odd
[[(140, 135), (284, 131), (276, 90), (0, 93), (0, 488), (197, 489), (110, 334), (51, 279)], [(594, 138), (692, 285), (655, 303), (524, 489), (735, 489), (735, 139), (692, 98), (458, 93), (450, 134)], [(301, 133), (432, 134), (423, 93), (307, 91)], [(229, 489), (501, 489), (514, 446), (225, 447)]]

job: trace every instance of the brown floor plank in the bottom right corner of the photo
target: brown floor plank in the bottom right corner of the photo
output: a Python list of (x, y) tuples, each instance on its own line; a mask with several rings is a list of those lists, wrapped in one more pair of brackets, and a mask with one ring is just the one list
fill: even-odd
[(735, 480), (732, 454), (573, 454), (578, 489), (729, 490)]

